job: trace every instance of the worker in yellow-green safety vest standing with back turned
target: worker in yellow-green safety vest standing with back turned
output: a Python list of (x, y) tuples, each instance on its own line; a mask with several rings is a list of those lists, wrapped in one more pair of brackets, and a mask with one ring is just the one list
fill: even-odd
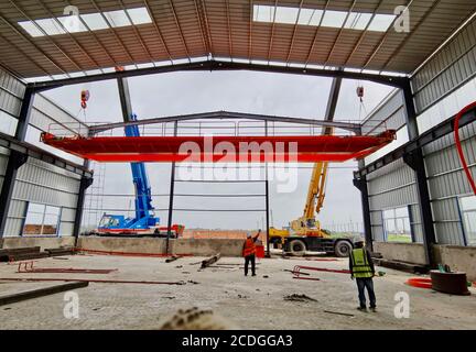
[(357, 280), (357, 288), (359, 294), (360, 306), (357, 308), (361, 311), (367, 311), (365, 289), (370, 300), (370, 309), (377, 311), (376, 296), (374, 292), (375, 267), (369, 251), (364, 248), (364, 241), (358, 240), (355, 242), (355, 249), (350, 252), (349, 257), (350, 277)]

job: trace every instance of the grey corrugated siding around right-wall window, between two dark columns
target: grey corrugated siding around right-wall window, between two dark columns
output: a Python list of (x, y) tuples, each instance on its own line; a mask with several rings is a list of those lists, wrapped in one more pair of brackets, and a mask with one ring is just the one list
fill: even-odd
[(375, 241), (385, 241), (382, 210), (404, 206), (410, 206), (415, 241), (423, 241), (414, 172), (402, 160), (369, 174), (367, 187)]

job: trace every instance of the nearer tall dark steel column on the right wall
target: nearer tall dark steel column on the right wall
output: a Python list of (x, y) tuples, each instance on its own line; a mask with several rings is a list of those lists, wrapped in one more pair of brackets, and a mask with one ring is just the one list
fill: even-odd
[[(413, 94), (410, 80), (408, 80), (407, 85), (403, 87), (403, 97), (407, 111), (405, 118), (409, 139), (410, 141), (415, 141), (419, 138), (419, 129), (416, 123), (416, 110), (413, 101)], [(436, 243), (436, 238), (433, 227), (433, 215), (431, 210), (430, 191), (428, 187), (428, 178), (422, 148), (419, 147), (413, 152), (403, 155), (403, 161), (415, 173), (426, 264), (431, 267), (434, 267), (435, 260), (433, 255), (433, 244)]]

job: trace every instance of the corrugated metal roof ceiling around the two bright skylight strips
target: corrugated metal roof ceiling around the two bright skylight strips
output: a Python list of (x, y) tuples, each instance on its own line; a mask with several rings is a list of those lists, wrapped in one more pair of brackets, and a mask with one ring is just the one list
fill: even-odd
[[(253, 4), (392, 14), (410, 11), (410, 32), (253, 21)], [(31, 36), (18, 22), (145, 8), (152, 23)], [(411, 73), (476, 10), (474, 0), (6, 0), (0, 65), (20, 77), (194, 57), (231, 57)]]

